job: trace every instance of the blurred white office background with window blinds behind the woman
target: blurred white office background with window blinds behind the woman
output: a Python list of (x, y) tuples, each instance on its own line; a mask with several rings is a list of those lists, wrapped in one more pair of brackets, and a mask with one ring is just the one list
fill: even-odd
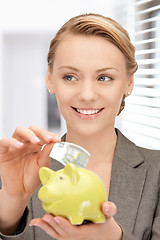
[(0, 138), (31, 124), (66, 131), (45, 85), (47, 52), (68, 19), (89, 12), (118, 21), (136, 46), (135, 87), (116, 126), (160, 149), (160, 0), (0, 0)]

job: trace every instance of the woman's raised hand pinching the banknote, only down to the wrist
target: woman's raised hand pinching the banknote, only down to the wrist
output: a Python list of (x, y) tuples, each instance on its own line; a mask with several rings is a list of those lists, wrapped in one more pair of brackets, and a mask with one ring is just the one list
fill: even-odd
[[(49, 166), (49, 153), (60, 139), (37, 126), (18, 127), (12, 138), (0, 140), (2, 191), (29, 200), (40, 184), (39, 168)], [(42, 146), (44, 146), (42, 150)]]

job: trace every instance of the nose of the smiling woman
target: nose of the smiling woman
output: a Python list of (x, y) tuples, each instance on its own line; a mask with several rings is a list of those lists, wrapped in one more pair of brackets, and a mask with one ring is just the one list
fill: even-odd
[(91, 80), (81, 82), (79, 91), (79, 99), (81, 101), (95, 101), (98, 97), (96, 86)]

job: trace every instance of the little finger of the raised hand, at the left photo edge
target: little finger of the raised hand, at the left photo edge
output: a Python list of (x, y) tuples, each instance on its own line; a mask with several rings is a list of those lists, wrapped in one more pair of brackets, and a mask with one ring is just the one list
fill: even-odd
[(14, 138), (2, 138), (0, 139), (0, 153), (8, 151), (9, 147), (21, 148), (23, 143)]

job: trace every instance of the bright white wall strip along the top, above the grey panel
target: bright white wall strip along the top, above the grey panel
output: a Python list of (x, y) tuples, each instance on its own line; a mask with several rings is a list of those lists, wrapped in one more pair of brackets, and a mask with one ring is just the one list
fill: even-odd
[(48, 32), (81, 13), (113, 17), (116, 4), (116, 0), (5, 0), (0, 1), (0, 23), (5, 31)]

